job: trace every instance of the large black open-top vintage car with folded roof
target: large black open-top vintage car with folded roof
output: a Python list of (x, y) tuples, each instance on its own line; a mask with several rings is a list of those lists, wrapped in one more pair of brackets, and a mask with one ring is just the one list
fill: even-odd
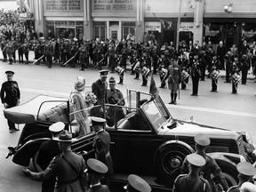
[[(237, 182), (237, 163), (245, 160), (254, 163), (254, 147), (248, 133), (177, 120), (160, 96), (152, 97), (135, 90), (127, 90), (127, 95), (125, 106), (106, 104), (106, 130), (111, 137), (110, 152), (115, 164), (112, 180), (126, 180), (125, 175), (136, 173), (146, 180), (150, 178), (150, 185), (166, 188), (163, 180), (169, 178), (169, 183), (175, 180), (185, 156), (194, 152), (197, 133), (211, 138), (206, 152), (215, 158), (229, 185)], [(116, 118), (120, 110), (124, 112), (121, 119)], [(25, 124), (18, 145), (9, 147), (6, 157), (13, 155), (13, 163), (21, 166), (28, 166), (32, 158), (37, 171), (41, 171), (36, 163), (38, 149), (51, 138), (49, 126), (61, 121), (71, 132), (76, 130), (73, 108), (67, 98), (39, 95), (20, 106), (4, 109), (4, 116), (16, 124)], [(92, 157), (94, 136), (95, 133), (90, 132), (75, 137), (72, 149), (76, 153), (86, 151), (84, 158)]]

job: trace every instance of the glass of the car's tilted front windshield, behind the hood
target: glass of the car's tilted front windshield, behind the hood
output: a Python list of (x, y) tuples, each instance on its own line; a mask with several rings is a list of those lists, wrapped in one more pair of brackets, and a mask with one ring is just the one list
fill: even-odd
[(154, 125), (157, 130), (167, 119), (164, 118), (162, 111), (157, 108), (155, 101), (150, 101), (142, 106), (142, 111), (148, 117), (148, 121)]

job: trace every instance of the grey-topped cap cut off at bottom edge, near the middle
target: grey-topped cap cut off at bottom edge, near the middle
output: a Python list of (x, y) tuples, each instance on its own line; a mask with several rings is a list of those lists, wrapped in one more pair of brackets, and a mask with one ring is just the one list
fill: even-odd
[(124, 186), (126, 192), (150, 192), (151, 187), (146, 180), (143, 180), (138, 175), (130, 174), (128, 176), (128, 184)]

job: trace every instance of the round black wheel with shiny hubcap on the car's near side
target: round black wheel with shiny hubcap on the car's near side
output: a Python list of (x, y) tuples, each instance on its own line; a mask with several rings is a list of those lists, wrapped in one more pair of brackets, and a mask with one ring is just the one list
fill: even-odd
[(171, 172), (180, 172), (180, 167), (185, 157), (194, 152), (193, 148), (181, 140), (164, 142), (156, 149), (154, 157), (158, 175), (166, 176)]

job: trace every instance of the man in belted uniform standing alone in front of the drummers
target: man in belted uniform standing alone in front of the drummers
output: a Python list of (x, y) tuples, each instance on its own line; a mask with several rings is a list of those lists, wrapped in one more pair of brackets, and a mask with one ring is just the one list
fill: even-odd
[(177, 60), (173, 60), (172, 65), (168, 68), (168, 87), (171, 90), (171, 102), (169, 104), (176, 104), (177, 91), (180, 89), (181, 69)]

